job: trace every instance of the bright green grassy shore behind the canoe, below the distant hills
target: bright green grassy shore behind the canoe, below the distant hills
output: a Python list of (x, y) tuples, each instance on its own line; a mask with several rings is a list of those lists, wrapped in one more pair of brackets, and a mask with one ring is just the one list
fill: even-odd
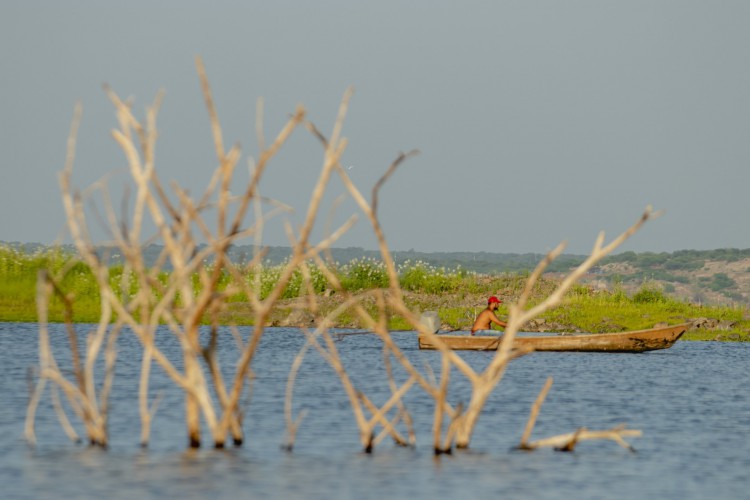
[[(333, 265), (344, 288), (350, 293), (366, 292), (387, 285), (385, 269), (377, 260), (361, 259)], [(95, 322), (99, 318), (99, 291), (90, 270), (69, 254), (46, 250), (27, 254), (10, 247), (0, 247), (0, 321), (37, 321), (36, 279), (41, 269), (63, 276), (61, 288), (74, 303), (73, 321)], [(342, 303), (341, 294), (332, 293), (319, 271), (312, 266), (311, 285), (318, 295), (321, 312), (326, 314)], [(281, 270), (269, 265), (248, 272), (248, 279), (259, 277), (261, 297), (270, 290)], [(256, 274), (253, 274), (256, 273)], [(122, 268), (113, 266), (110, 279), (120, 280)], [(489, 295), (497, 295), (504, 302), (513, 302), (521, 293), (526, 275), (483, 275), (460, 268), (434, 268), (424, 262), (406, 262), (399, 268), (401, 287), (407, 305), (414, 311), (437, 311), (444, 330), (470, 328), (475, 315), (481, 311)], [(196, 280), (196, 283), (198, 280)], [(551, 279), (542, 279), (534, 289), (535, 300), (541, 300), (556, 286)], [(197, 286), (197, 285), (196, 285)], [(274, 311), (273, 326), (310, 326), (313, 316), (304, 309), (302, 275), (295, 276), (284, 292), (284, 298)], [(363, 298), (366, 306), (375, 310), (374, 299)], [(533, 301), (532, 301), (533, 302)], [(50, 320), (65, 318), (63, 301), (54, 298), (50, 304)], [(505, 304), (499, 315), (507, 314)], [(249, 325), (253, 311), (241, 294), (231, 297), (221, 313), (225, 324)], [(750, 312), (746, 308), (696, 305), (676, 300), (656, 285), (644, 284), (637, 292), (627, 294), (622, 289), (593, 290), (575, 286), (565, 303), (549, 311), (526, 326), (527, 331), (605, 332), (651, 328), (657, 323), (697, 321), (700, 327), (691, 329), (687, 340), (750, 341)], [(353, 313), (338, 316), (336, 326), (361, 328)], [(393, 330), (409, 329), (406, 322), (393, 315)]]

